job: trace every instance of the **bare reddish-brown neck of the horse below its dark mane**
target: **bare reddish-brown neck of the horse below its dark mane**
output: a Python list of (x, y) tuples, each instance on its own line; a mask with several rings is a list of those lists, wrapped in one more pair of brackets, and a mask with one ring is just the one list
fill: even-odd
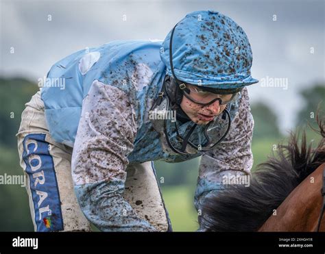
[[(323, 205), (320, 190), (324, 168), (322, 164), (306, 177), (258, 231), (315, 231)], [(320, 231), (325, 231), (324, 217)]]

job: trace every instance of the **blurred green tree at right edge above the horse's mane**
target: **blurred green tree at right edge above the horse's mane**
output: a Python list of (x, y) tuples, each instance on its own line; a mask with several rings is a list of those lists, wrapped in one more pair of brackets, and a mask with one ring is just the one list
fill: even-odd
[(307, 121), (312, 125), (316, 125), (315, 118), (317, 107), (320, 114), (325, 114), (325, 84), (315, 84), (312, 88), (306, 88), (300, 92), (304, 100), (304, 107), (298, 112), (296, 118), (296, 126), (306, 125)]

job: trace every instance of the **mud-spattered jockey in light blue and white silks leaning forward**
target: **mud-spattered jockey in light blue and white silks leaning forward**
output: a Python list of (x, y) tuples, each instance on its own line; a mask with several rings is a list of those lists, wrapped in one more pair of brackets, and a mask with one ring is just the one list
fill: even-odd
[(222, 177), (252, 168), (251, 66), (243, 29), (210, 10), (54, 64), (17, 134), (35, 230), (171, 231), (153, 162), (202, 156), (200, 223)]

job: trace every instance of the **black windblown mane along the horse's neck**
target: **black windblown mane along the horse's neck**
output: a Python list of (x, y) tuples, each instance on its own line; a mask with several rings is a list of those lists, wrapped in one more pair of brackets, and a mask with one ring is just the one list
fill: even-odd
[(228, 185), (225, 190), (210, 196), (202, 205), (200, 222), (206, 231), (257, 231), (282, 201), (308, 175), (325, 162), (325, 123), (316, 116), (322, 136), (312, 149), (307, 145), (306, 132), (290, 132), (287, 145), (279, 144), (276, 156), (258, 164), (250, 186)]

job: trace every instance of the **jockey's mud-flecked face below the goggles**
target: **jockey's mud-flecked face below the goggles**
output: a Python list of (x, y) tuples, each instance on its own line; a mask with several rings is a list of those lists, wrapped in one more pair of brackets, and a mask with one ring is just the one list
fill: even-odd
[(180, 107), (186, 113), (189, 118), (197, 125), (206, 125), (208, 122), (213, 120), (213, 118), (226, 108), (226, 104), (219, 105), (219, 101), (215, 101), (214, 103), (202, 106), (193, 101), (190, 101), (185, 96), (182, 98), (182, 102), (180, 103)]

